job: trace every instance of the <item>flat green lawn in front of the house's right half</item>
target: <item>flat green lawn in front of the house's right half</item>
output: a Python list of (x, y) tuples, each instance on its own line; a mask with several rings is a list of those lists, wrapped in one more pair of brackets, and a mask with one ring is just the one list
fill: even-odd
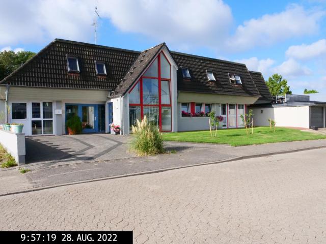
[(276, 131), (270, 131), (269, 127), (255, 127), (254, 134), (246, 134), (246, 129), (221, 129), (217, 137), (210, 137), (209, 131), (192, 131), (164, 133), (165, 141), (184, 141), (229, 144), (231, 146), (254, 145), (264, 143), (276, 143), (284, 141), (302, 141), (314, 139), (326, 139), (326, 136), (303, 132), (295, 129), (277, 127)]

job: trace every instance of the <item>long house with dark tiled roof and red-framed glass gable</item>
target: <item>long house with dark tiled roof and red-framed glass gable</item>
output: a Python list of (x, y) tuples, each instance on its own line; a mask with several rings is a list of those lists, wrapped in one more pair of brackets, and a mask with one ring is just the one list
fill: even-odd
[[(258, 79), (257, 79), (258, 77)], [(66, 134), (77, 114), (84, 133), (129, 134), (144, 115), (163, 132), (206, 130), (205, 115), (223, 128), (243, 127), (240, 115), (271, 99), (261, 73), (244, 64), (170, 51), (142, 52), (56, 39), (0, 81), (0, 110), (26, 135)]]

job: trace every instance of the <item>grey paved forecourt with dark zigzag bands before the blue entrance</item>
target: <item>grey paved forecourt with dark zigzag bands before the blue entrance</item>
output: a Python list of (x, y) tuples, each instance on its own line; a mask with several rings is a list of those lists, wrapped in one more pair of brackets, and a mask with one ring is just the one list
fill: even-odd
[(129, 140), (129, 136), (110, 134), (26, 137), (26, 163), (69, 164), (133, 157), (127, 151)]

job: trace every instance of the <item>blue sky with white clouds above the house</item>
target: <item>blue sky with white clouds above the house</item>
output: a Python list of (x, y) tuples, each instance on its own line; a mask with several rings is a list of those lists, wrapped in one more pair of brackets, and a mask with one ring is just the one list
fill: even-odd
[(38, 52), (55, 38), (244, 63), (293, 94), (326, 99), (326, 0), (0, 0), (0, 51)]

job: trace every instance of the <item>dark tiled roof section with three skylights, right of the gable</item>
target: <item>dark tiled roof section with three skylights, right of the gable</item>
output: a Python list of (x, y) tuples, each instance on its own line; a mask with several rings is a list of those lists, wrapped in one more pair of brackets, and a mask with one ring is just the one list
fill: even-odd
[[(260, 97), (257, 87), (244, 64), (173, 51), (171, 53), (178, 66), (188, 68), (192, 76), (190, 80), (183, 79), (181, 69), (179, 69), (177, 74), (178, 90)], [(208, 81), (206, 70), (213, 72), (216, 82)], [(228, 73), (238, 74), (242, 85), (232, 84)]]

